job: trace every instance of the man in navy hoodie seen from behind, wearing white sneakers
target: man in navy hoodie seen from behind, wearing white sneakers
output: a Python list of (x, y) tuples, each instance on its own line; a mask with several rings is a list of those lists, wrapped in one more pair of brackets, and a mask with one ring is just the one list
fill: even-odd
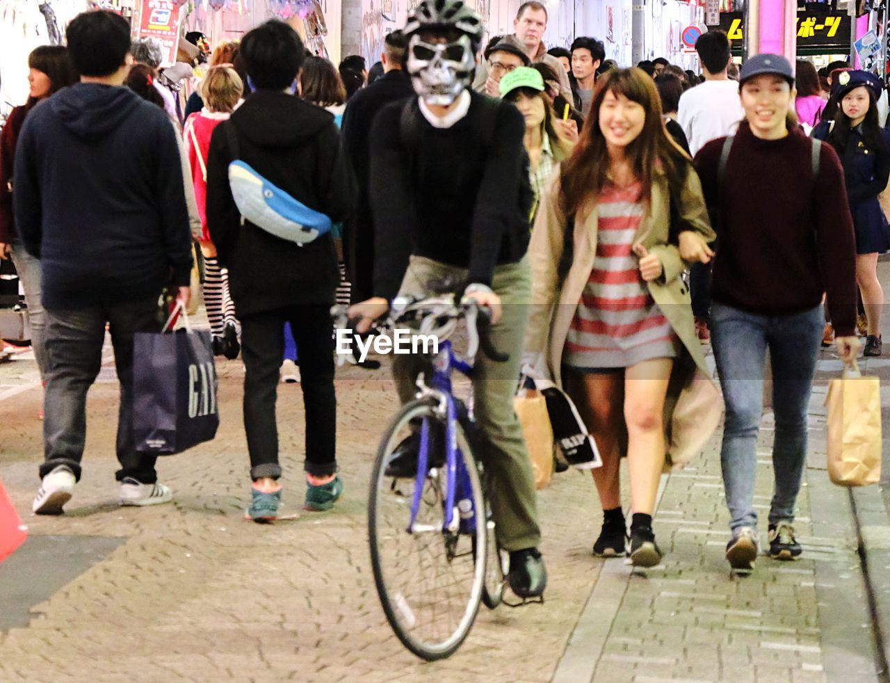
[(122, 87), (130, 27), (114, 12), (69, 24), (82, 75), (31, 111), (21, 130), (12, 202), (28, 253), (43, 267), (47, 313), (42, 485), (37, 514), (60, 514), (80, 479), (86, 392), (101, 367), (109, 324), (120, 380), (117, 471), (122, 505), (171, 500), (155, 458), (135, 450), (133, 338), (158, 331), (169, 286), (190, 297), (189, 216), (173, 126)]

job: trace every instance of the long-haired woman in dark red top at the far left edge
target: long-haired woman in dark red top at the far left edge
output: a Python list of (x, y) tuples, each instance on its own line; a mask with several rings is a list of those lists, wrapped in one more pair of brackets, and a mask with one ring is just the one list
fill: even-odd
[(25, 117), (37, 102), (45, 100), (79, 77), (62, 45), (41, 45), (28, 55), (28, 102), (12, 110), (0, 133), (0, 258), (12, 256), (28, 305), (31, 346), (41, 376), (45, 369), (43, 344), (44, 307), (40, 303), (40, 262), (22, 247), (12, 222), (12, 163)]

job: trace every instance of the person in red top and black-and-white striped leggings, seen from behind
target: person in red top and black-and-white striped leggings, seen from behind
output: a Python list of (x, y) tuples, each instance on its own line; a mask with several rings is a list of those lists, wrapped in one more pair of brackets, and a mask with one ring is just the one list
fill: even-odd
[(235, 305), (229, 294), (229, 275), (220, 267), (216, 248), (210, 240), (210, 232), (207, 231), (207, 154), (214, 128), (229, 118), (238, 106), (244, 84), (231, 65), (220, 64), (207, 72), (199, 90), (204, 99), (204, 108), (186, 120), (182, 135), (191, 165), (198, 215), (201, 217), (201, 253), (206, 264), (204, 303), (210, 331), (214, 336), (214, 353), (224, 354), (226, 358), (237, 358), (240, 350), (238, 321), (235, 319)]

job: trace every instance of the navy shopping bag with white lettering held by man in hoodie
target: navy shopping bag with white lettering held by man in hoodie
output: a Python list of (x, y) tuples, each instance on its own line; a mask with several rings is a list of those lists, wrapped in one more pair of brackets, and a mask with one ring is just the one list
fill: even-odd
[[(185, 329), (168, 332), (182, 313)], [(210, 333), (192, 330), (178, 304), (159, 334), (134, 337), (133, 435), (136, 450), (173, 455), (211, 441), (219, 427)]]

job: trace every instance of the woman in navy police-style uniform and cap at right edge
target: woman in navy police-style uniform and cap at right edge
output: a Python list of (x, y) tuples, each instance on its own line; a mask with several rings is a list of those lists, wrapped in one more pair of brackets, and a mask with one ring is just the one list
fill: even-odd
[(890, 176), (890, 137), (878, 124), (877, 102), (883, 83), (868, 71), (844, 71), (831, 87), (840, 106), (831, 121), (813, 129), (844, 163), (846, 194), (856, 233), (856, 281), (868, 319), (865, 355), (881, 354), (880, 315), (884, 291), (878, 282), (878, 254), (890, 250), (890, 229), (878, 194)]

